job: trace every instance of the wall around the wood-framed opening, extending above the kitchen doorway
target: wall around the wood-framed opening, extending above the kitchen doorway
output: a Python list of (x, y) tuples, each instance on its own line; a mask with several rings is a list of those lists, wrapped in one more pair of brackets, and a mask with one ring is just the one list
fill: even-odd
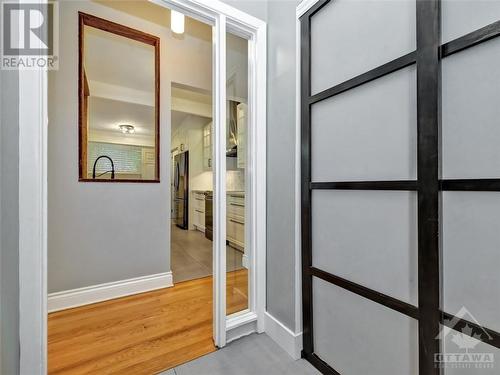
[[(78, 11), (161, 37), (161, 183), (78, 182)], [(61, 1), (60, 22), (60, 68), (49, 74), (48, 290), (169, 271), (170, 86), (211, 89), (212, 45), (93, 2)]]

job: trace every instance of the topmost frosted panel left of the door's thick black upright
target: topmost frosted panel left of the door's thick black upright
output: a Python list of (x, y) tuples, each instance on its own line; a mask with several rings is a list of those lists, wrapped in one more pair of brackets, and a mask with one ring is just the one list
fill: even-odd
[(311, 19), (317, 93), (415, 50), (415, 0), (335, 0)]

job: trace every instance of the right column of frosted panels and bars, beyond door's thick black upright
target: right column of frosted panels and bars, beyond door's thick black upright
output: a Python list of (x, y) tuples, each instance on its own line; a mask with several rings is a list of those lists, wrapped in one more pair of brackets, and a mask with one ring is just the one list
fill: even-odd
[(498, 374), (500, 2), (443, 0), (441, 14), (439, 363), (445, 375)]

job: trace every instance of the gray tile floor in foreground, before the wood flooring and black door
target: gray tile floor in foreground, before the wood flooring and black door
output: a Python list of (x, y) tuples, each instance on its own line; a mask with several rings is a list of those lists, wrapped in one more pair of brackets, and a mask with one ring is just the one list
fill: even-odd
[(225, 348), (160, 375), (317, 375), (303, 359), (293, 360), (265, 333), (253, 334)]

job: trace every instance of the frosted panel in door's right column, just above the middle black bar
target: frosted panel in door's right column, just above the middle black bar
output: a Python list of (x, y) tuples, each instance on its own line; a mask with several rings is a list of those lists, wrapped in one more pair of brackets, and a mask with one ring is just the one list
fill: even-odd
[(500, 177), (500, 38), (442, 63), (445, 178)]

